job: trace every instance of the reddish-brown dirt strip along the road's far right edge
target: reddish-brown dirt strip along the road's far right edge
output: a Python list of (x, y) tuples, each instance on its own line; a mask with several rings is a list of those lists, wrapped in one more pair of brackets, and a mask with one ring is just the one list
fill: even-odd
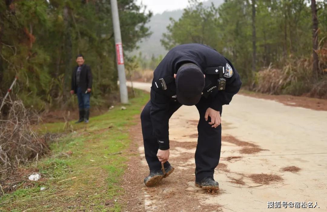
[(262, 93), (249, 92), (246, 90), (241, 90), (239, 94), (248, 97), (275, 100), (287, 106), (303, 107), (318, 111), (327, 111), (327, 99), (296, 97), (291, 95), (268, 95)]

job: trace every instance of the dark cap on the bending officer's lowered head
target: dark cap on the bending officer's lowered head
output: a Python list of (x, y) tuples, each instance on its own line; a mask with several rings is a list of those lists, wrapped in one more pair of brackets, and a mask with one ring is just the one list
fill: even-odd
[(195, 105), (200, 101), (205, 85), (203, 73), (196, 64), (185, 63), (176, 74), (176, 96), (183, 105)]

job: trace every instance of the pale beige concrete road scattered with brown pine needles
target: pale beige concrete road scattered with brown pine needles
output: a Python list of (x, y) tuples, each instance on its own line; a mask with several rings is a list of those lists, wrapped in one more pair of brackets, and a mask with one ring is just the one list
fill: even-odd
[[(150, 90), (150, 83), (134, 82), (134, 87)], [(182, 106), (170, 119), (170, 139), (197, 142), (188, 135), (196, 133), (189, 120), (198, 120), (195, 106)], [(222, 135), (232, 135), (264, 149), (258, 153), (242, 154), (242, 146), (222, 142), (220, 162), (229, 171), (216, 170), (215, 180), (224, 191), (221, 195), (200, 196), (201, 204), (220, 204), (223, 211), (265, 211), (267, 202), (312, 202), (312, 207), (327, 211), (327, 112), (285, 106), (282, 103), (235, 95), (230, 105), (223, 106)], [(140, 148), (142, 150), (142, 148)], [(180, 151), (183, 151), (180, 148)], [(195, 152), (195, 149), (191, 150)], [(171, 159), (177, 150), (171, 151)], [(142, 152), (141, 152), (142, 155)], [(227, 160), (229, 156), (241, 156), (238, 160)], [(189, 165), (194, 164), (194, 159)], [(283, 172), (281, 168), (296, 166), (297, 173)], [(251, 174), (274, 174), (283, 181), (269, 185), (255, 183)], [(244, 185), (230, 182), (242, 179)], [(195, 191), (194, 182), (186, 190)], [(300, 204), (299, 203), (299, 204)], [(285, 203), (284, 203), (285, 204)], [(296, 203), (297, 204), (297, 203)], [(309, 203), (310, 204), (310, 203)], [(153, 208), (152, 204), (152, 208)], [(301, 205), (300, 207), (302, 207)], [(147, 208), (147, 210), (152, 210)], [(278, 207), (275, 205), (275, 207)], [(309, 207), (307, 205), (307, 207)], [(295, 207), (287, 210), (295, 210)], [(213, 209), (214, 210), (214, 209)]]

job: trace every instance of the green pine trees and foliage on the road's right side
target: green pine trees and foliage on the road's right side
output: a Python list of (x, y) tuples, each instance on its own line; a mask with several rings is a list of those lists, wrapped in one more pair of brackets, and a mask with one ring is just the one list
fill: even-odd
[[(190, 0), (182, 17), (171, 19), (161, 43), (166, 49), (187, 43), (211, 46), (233, 62), (244, 85), (250, 87), (255, 86), (258, 77), (263, 79), (260, 77), (262, 74), (256, 73), (266, 67), (281, 69), (281, 73), (285, 73), (282, 78), (287, 78), (289, 73), (305, 72), (298, 77), (295, 74), (291, 84), (296, 84), (296, 89), (288, 88), (298, 90), (299, 84), (324, 80), (327, 73), (327, 2), (317, 1), (319, 47), (315, 52), (319, 56), (318, 79), (314, 73), (316, 70), (312, 72), (313, 22), (310, 4), (305, 0), (225, 0), (219, 7), (206, 7), (198, 0)], [(303, 60), (310, 65), (299, 66)], [(298, 82), (303, 77), (306, 81)], [(308, 81), (311, 77), (313, 82)], [(291, 84), (286, 83), (285, 86)], [(302, 87), (310, 86), (305, 84)], [(327, 88), (324, 89), (327, 91)], [(303, 89), (302, 92), (288, 93), (300, 95), (309, 91)]]

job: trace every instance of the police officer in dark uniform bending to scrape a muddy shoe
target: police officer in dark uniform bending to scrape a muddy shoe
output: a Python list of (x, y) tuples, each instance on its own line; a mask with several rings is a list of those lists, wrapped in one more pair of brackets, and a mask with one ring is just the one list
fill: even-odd
[(213, 177), (220, 158), (222, 105), (230, 103), (241, 84), (232, 63), (206, 45), (183, 44), (167, 53), (154, 70), (151, 99), (141, 113), (150, 169), (146, 186), (156, 185), (173, 172), (168, 162), (169, 118), (181, 105), (195, 105), (200, 114), (195, 183), (205, 189), (219, 188)]

